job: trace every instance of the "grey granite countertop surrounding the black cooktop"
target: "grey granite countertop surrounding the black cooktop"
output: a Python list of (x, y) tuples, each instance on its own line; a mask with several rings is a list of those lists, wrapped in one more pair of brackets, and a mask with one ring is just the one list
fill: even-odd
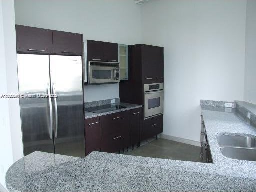
[(107, 115), (107, 114), (113, 114), (116, 112), (122, 112), (122, 111), (126, 111), (126, 110), (131, 110), (131, 109), (135, 109), (135, 108), (141, 108), (142, 105), (138, 105), (138, 104), (129, 104), (129, 103), (124, 103), (124, 102), (119, 102), (119, 103), (114, 103), (113, 105), (122, 105), (122, 106), (126, 106), (127, 108), (122, 108), (122, 109), (116, 109), (113, 111), (108, 111), (108, 112), (102, 112), (102, 113), (93, 113), (93, 112), (88, 112), (85, 110), (85, 119), (89, 119), (89, 118), (93, 118), (93, 117), (97, 117), (97, 116), (103, 116), (103, 115)]

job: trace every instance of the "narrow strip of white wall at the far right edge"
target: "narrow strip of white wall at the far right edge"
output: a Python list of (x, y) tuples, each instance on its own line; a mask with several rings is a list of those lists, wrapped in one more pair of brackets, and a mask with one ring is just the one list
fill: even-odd
[(256, 0), (247, 1), (244, 100), (256, 104)]

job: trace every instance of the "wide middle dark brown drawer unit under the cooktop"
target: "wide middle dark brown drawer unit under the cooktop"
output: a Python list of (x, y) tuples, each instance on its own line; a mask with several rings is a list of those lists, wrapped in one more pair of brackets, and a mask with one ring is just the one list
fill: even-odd
[(102, 152), (116, 152), (129, 146), (129, 111), (100, 116)]

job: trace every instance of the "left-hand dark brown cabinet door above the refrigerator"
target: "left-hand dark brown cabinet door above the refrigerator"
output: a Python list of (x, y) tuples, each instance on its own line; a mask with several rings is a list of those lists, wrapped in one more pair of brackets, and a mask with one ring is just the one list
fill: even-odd
[(52, 30), (16, 25), (17, 52), (53, 53)]

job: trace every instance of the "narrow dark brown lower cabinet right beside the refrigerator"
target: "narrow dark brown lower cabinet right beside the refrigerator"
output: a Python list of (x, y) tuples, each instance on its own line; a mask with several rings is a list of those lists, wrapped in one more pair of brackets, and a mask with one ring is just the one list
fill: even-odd
[(100, 151), (99, 117), (85, 119), (85, 155), (93, 151)]

